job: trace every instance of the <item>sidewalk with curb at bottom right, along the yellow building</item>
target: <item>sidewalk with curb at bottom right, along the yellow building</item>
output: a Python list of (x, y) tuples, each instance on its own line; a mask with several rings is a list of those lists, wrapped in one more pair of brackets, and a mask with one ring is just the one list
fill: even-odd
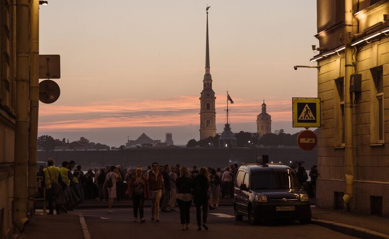
[(389, 218), (313, 207), (313, 223), (359, 238), (388, 238)]

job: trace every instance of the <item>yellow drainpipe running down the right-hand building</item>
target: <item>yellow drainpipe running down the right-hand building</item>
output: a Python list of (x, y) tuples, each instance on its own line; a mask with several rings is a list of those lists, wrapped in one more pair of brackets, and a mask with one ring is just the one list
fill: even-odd
[(354, 159), (353, 159), (353, 104), (350, 92), (350, 77), (353, 73), (353, 1), (344, 0), (344, 45), (345, 45), (345, 69), (344, 69), (344, 123), (345, 123), (345, 149), (344, 149), (344, 179), (345, 190), (343, 196), (344, 208), (354, 197)]

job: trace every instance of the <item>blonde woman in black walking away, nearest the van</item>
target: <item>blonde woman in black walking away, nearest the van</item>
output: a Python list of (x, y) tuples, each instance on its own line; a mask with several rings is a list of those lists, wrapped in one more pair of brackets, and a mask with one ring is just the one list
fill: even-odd
[[(196, 205), (196, 219), (198, 230), (201, 230), (203, 225), (204, 229), (208, 230), (207, 217), (208, 217), (208, 187), (209, 187), (209, 173), (207, 168), (201, 167), (199, 175), (193, 180), (193, 201)], [(201, 211), (203, 209), (203, 223), (201, 223)]]

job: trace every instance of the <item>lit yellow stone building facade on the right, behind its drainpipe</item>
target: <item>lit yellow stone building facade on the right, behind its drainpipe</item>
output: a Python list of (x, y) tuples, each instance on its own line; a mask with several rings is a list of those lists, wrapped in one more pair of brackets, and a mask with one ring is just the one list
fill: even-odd
[(344, 33), (344, 1), (318, 0), (316, 37), (321, 127), (316, 205), (341, 209), (345, 192), (344, 37), (353, 46), (354, 197), (348, 210), (389, 216), (389, 1), (353, 1), (353, 32)]

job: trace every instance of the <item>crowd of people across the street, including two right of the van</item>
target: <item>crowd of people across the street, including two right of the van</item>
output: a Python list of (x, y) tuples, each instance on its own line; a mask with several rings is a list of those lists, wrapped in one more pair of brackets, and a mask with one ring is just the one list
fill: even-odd
[[(132, 199), (134, 222), (144, 223), (144, 201), (151, 200), (151, 221), (160, 221), (160, 212), (180, 211), (182, 230), (189, 228), (190, 207), (196, 208), (198, 230), (208, 230), (208, 210), (218, 208), (220, 198), (232, 198), (238, 165), (230, 167), (205, 168), (196, 166), (159, 165), (155, 162), (144, 170), (137, 166), (125, 173), (121, 166), (89, 169), (85, 174), (74, 161), (62, 162), (55, 167), (54, 160), (48, 160), (48, 167), (41, 167), (38, 178), (41, 188), (46, 188), (49, 214), (53, 214), (53, 200), (57, 214), (66, 213), (85, 199), (108, 202), (108, 213), (113, 213), (114, 200)], [(316, 165), (310, 170), (311, 184), (315, 188), (319, 176)], [(305, 169), (298, 164), (297, 178), (300, 184), (306, 182)], [(315, 191), (315, 190), (314, 190)]]

